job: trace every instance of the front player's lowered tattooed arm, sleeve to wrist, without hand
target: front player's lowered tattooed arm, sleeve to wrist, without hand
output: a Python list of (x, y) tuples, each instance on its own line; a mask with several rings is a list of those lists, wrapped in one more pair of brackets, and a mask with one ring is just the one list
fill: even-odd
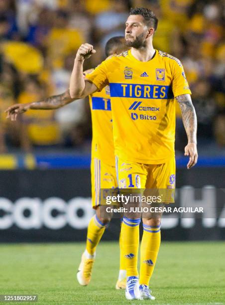
[(176, 97), (179, 103), (184, 127), (188, 136), (189, 143), (197, 144), (197, 117), (195, 108), (192, 104), (190, 94), (183, 94)]

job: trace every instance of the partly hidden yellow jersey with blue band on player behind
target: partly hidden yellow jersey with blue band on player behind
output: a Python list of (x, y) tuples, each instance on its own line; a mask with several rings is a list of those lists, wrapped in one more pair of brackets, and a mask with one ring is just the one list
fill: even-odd
[[(88, 75), (86, 75), (87, 77)], [(89, 96), (92, 114), (92, 158), (98, 158), (114, 166), (114, 145), (112, 136), (112, 111), (110, 88)]]

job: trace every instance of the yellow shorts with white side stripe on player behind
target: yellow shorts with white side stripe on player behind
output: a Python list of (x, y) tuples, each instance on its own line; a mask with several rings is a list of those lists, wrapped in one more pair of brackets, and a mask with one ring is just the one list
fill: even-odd
[[(117, 188), (115, 166), (111, 166), (98, 158), (91, 161), (92, 207), (106, 204), (105, 190)], [(111, 194), (111, 192), (109, 193)]]

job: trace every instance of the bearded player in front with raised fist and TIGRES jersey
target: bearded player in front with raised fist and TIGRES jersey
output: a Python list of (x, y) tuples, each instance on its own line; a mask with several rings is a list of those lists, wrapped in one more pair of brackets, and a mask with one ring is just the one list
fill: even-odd
[[(85, 97), (110, 85), (116, 172), (120, 190), (175, 188), (175, 99), (188, 137), (187, 168), (195, 165), (197, 118), (181, 62), (153, 48), (158, 19), (148, 8), (132, 8), (125, 24), (131, 50), (103, 61), (87, 80), (83, 62), (95, 54), (91, 44), (79, 48), (70, 80), (70, 95)], [(173, 202), (172, 198), (168, 198)], [(165, 203), (168, 203), (165, 200)], [(140, 203), (136, 203), (138, 205)], [(126, 258), (128, 300), (155, 298), (149, 290), (159, 246), (161, 214), (142, 217), (140, 275), (137, 270), (139, 214), (124, 213), (121, 237)]]

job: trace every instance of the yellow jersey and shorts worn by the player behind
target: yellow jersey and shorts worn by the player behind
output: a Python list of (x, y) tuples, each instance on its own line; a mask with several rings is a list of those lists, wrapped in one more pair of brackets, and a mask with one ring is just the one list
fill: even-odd
[(89, 96), (92, 114), (92, 206), (103, 204), (101, 189), (117, 187), (109, 86)]

